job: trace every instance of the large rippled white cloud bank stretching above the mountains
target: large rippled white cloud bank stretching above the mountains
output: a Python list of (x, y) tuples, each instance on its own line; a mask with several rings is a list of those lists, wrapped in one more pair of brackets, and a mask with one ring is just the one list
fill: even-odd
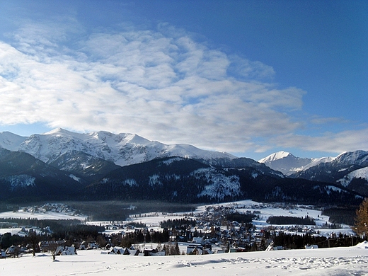
[(360, 132), (355, 140), (351, 132), (295, 136), (304, 123), (291, 114), (304, 91), (278, 89), (268, 83), (272, 67), (211, 49), (183, 30), (129, 28), (73, 41), (82, 30), (73, 20), (65, 28), (27, 23), (13, 45), (0, 42), (1, 125), (134, 132), (232, 152), (263, 151), (265, 142), (323, 151), (331, 139), (344, 150), (367, 144)]

